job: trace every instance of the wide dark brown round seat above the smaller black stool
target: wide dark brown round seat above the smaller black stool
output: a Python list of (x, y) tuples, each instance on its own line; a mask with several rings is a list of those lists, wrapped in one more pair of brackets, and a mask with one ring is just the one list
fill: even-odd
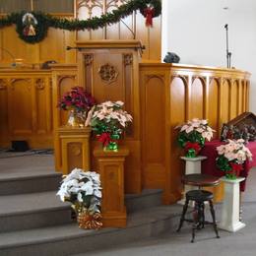
[(182, 182), (186, 185), (210, 187), (220, 184), (220, 178), (209, 174), (187, 174), (182, 177)]

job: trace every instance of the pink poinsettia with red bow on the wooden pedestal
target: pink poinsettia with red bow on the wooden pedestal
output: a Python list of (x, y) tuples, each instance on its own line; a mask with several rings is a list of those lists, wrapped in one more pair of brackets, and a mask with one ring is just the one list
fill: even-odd
[(89, 114), (91, 127), (104, 150), (117, 151), (118, 140), (132, 122), (132, 116), (122, 109), (123, 104), (122, 101), (105, 101)]

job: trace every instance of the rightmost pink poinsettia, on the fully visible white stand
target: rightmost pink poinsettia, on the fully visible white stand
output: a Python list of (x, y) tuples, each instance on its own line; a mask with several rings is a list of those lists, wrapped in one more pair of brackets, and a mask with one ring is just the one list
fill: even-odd
[(250, 150), (244, 145), (244, 140), (227, 140), (227, 143), (217, 147), (219, 157), (217, 166), (224, 171), (227, 178), (235, 179), (243, 168), (245, 160), (252, 160)]

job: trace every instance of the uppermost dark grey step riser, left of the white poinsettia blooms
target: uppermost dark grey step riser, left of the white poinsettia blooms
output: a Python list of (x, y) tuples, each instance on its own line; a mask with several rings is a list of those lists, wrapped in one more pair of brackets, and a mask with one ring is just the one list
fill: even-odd
[(52, 175), (49, 177), (1, 181), (0, 196), (57, 190), (60, 186), (60, 180), (60, 175)]

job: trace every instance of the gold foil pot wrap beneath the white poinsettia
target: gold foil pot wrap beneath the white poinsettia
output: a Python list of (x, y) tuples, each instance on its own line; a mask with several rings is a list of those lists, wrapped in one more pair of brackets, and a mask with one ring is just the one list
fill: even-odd
[(89, 212), (82, 212), (78, 214), (77, 218), (79, 227), (85, 229), (99, 229), (102, 227), (102, 217), (99, 213), (90, 214)]

